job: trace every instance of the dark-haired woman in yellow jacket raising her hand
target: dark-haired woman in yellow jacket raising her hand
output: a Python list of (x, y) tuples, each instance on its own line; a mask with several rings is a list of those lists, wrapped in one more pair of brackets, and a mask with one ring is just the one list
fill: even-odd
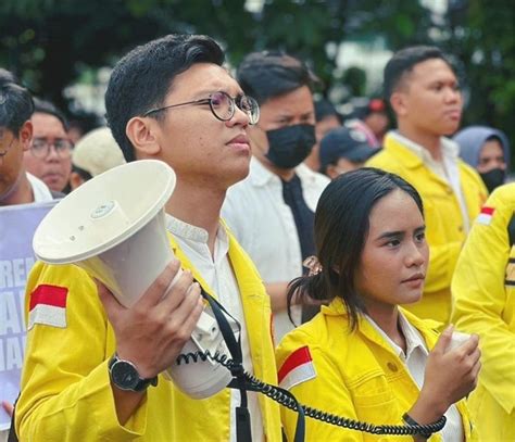
[[(324, 191), (315, 214), (318, 257), (293, 295), (328, 300), (310, 323), (288, 333), (276, 351), (279, 382), (300, 403), (375, 425), (447, 425), (431, 441), (474, 440), (462, 401), (479, 372), (478, 337), (450, 349), (452, 328), (398, 304), (424, 289), (428, 247), (423, 204), (397, 175), (365, 168), (342, 175)], [(289, 440), (296, 415), (281, 411)], [(306, 439), (399, 441), (307, 418)], [(416, 441), (425, 438), (416, 437)]]

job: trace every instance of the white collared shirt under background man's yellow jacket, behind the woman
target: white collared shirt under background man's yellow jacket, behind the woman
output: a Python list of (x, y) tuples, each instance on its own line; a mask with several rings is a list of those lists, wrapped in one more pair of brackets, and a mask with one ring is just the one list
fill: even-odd
[(457, 162), (460, 157), (460, 147), (449, 138), (441, 137), (440, 146), (442, 152), (442, 162), (436, 161), (429, 151), (423, 146), (403, 137), (395, 130), (389, 132), (390, 136), (395, 138), (405, 148), (410, 149), (415, 155), (417, 155), (422, 162), (447, 184), (449, 184), (456, 195), (460, 210), (462, 211), (463, 228), (465, 232), (468, 232), (470, 224), (468, 222), (468, 210), (463, 194), (462, 185), (460, 182), (460, 168)]

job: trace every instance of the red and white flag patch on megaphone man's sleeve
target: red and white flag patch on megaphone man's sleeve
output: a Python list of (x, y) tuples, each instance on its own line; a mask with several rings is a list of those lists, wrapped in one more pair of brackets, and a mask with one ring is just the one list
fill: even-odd
[(30, 293), (28, 330), (36, 324), (66, 328), (66, 298), (68, 289), (41, 285)]

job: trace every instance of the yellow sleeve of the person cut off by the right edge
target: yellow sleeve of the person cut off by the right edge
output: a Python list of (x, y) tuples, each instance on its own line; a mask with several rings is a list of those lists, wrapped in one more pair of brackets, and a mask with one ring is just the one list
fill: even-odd
[(494, 207), (490, 223), (475, 223), (457, 263), (452, 320), (460, 330), (480, 336), (479, 381), (510, 414), (515, 407), (515, 290), (507, 289), (504, 280), (515, 185), (495, 191), (487, 206)]

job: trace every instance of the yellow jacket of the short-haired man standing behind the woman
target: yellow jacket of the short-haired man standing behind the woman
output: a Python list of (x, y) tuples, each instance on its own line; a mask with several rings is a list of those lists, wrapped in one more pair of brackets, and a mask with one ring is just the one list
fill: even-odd
[[(382, 151), (373, 156), (366, 165), (401, 176), (420, 194), (424, 201), (426, 238), (430, 249), (429, 268), (422, 301), (404, 307), (422, 318), (449, 323), (452, 275), (466, 238), (456, 195), (443, 179), (391, 135), (387, 135)], [(459, 168), (472, 225), (487, 198), (487, 190), (479, 175), (461, 160)]]

